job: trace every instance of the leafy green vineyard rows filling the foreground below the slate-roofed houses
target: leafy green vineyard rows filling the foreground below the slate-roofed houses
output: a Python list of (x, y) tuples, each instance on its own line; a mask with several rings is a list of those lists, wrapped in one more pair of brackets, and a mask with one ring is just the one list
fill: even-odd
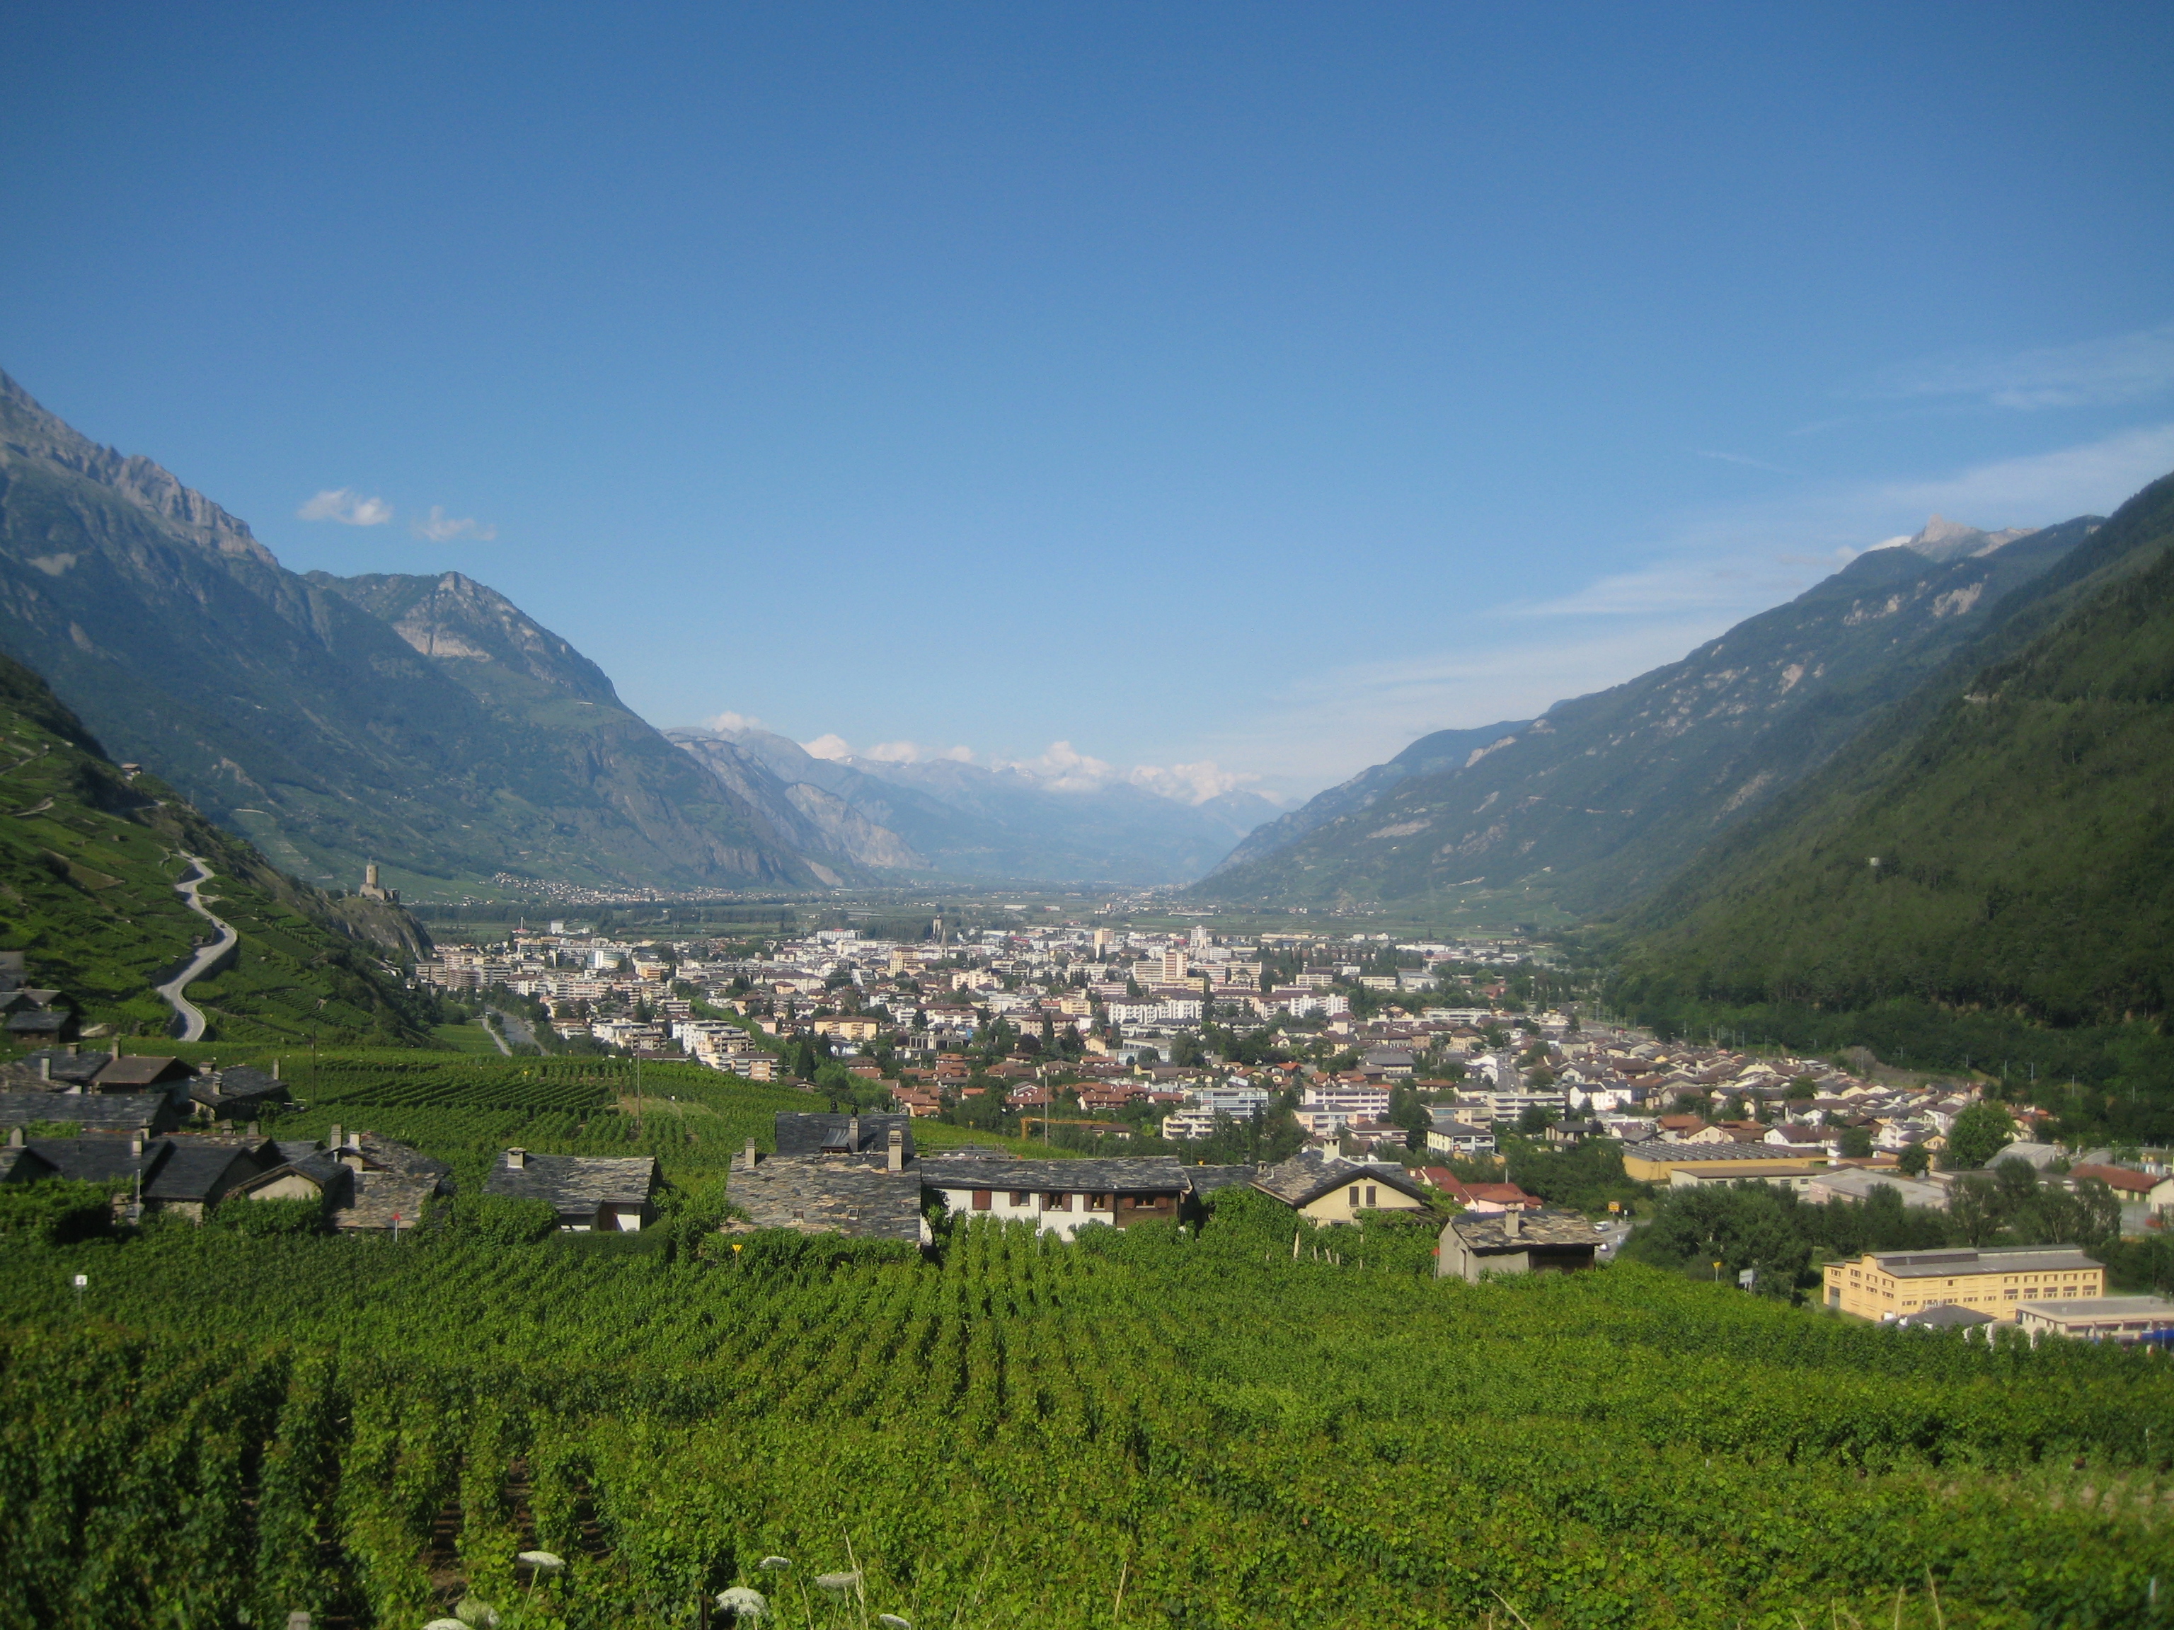
[(0, 1626), (2135, 1626), (2174, 1582), (2165, 1361), (1289, 1230), (4, 1241)]

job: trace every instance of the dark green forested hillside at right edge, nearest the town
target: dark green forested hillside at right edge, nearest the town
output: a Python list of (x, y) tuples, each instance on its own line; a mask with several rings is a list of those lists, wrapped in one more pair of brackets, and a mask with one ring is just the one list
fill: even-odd
[(1620, 998), (1761, 1008), (1800, 1039), (1887, 1026), (1926, 1063), (2046, 1058), (2115, 1119), (2174, 1102), (2170, 546), (2174, 476), (1639, 908)]

